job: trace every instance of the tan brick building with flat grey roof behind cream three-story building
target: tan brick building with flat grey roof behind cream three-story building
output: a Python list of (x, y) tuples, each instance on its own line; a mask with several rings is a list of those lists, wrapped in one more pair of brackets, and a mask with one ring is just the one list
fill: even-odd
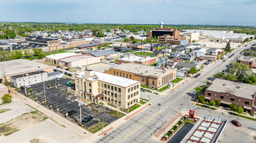
[(105, 73), (140, 81), (142, 85), (147, 85), (157, 90), (169, 85), (170, 81), (176, 79), (176, 72), (176, 68), (161, 69), (133, 62), (112, 66), (109, 70), (105, 70)]

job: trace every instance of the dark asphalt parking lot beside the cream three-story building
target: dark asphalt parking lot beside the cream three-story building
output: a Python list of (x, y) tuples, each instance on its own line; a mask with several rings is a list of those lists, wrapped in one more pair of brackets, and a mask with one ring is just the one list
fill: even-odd
[[(57, 88), (48, 88), (49, 83), (51, 85), (56, 84), (55, 80), (45, 82), (46, 105), (52, 105), (52, 109), (54, 110), (59, 109), (59, 112), (63, 115), (65, 115), (69, 110), (76, 110), (76, 114), (73, 114), (70, 117), (73, 118), (76, 122), (80, 122), (80, 107), (78, 106), (79, 97), (67, 92), (67, 87), (69, 86), (65, 84), (68, 81), (72, 81), (72, 79), (60, 79), (59, 84), (61, 84), (61, 86), (57, 86)], [(42, 83), (31, 85), (31, 88), (33, 88), (33, 91), (37, 92), (31, 94), (29, 97), (33, 99), (37, 98), (37, 102), (43, 103), (44, 88), (42, 86)], [(27, 92), (29, 92), (29, 89), (27, 89)], [(82, 118), (86, 118), (88, 116), (93, 117), (93, 120), (91, 120), (91, 122), (86, 123), (86, 127), (94, 125), (95, 123), (97, 123), (98, 119), (103, 119), (106, 123), (112, 123), (118, 119), (110, 115), (110, 113), (113, 111), (114, 110), (108, 109), (103, 105), (95, 105), (94, 103), (89, 103), (88, 105), (82, 106)]]

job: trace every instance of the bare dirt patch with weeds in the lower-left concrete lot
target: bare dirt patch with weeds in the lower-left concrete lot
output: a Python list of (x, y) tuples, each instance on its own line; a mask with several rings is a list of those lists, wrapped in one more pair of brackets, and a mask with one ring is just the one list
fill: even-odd
[(3, 125), (0, 126), (0, 136), (11, 135), (16, 131), (42, 122), (45, 120), (45, 118), (45, 115), (38, 111), (22, 114), (22, 116), (18, 116), (17, 118), (14, 118), (7, 123), (3, 123)]

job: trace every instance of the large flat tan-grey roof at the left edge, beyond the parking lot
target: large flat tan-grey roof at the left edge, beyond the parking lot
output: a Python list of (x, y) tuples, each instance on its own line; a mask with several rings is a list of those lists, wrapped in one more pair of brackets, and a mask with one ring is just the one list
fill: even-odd
[[(20, 74), (23, 72), (30, 72), (44, 68), (51, 68), (45, 64), (39, 62), (33, 62), (31, 60), (17, 59), (17, 60), (8, 60), (5, 62), (0, 62), (0, 67), (4, 66), (6, 75)], [(3, 76), (3, 70), (0, 70), (0, 76)]]

